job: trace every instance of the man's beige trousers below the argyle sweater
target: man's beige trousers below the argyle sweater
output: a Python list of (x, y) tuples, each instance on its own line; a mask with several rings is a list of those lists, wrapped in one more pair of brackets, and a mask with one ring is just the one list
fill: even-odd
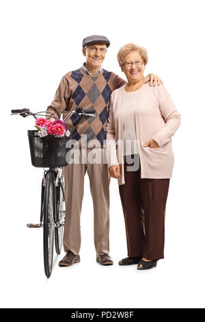
[[(103, 149), (97, 149), (101, 154)], [(109, 172), (107, 164), (89, 162), (89, 153), (94, 149), (87, 149), (87, 163), (68, 164), (64, 167), (66, 219), (64, 226), (64, 251), (72, 251), (78, 255), (81, 247), (80, 216), (84, 193), (84, 176), (90, 179), (90, 192), (94, 207), (94, 245), (96, 253), (109, 253)], [(91, 160), (92, 161), (92, 160)], [(85, 162), (85, 161), (84, 161)], [(88, 214), (87, 214), (88, 215)]]

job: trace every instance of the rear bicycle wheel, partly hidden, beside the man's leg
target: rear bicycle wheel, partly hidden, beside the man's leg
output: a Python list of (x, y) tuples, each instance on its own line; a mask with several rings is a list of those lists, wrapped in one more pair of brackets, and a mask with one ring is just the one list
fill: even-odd
[(64, 234), (64, 220), (66, 214), (66, 204), (65, 204), (65, 196), (64, 196), (64, 187), (59, 180), (59, 186), (56, 189), (56, 204), (57, 204), (57, 218), (56, 223), (58, 227), (55, 227), (55, 251), (59, 255), (61, 252), (63, 234)]

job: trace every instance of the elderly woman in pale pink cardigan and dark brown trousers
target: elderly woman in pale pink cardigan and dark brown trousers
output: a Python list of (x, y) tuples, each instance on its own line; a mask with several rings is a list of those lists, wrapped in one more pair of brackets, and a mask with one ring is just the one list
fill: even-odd
[(164, 258), (165, 205), (174, 166), (172, 136), (180, 126), (180, 113), (165, 86), (144, 83), (146, 49), (124, 45), (118, 62), (127, 84), (111, 95), (106, 149), (109, 174), (120, 185), (126, 226), (128, 257), (119, 264), (152, 269)]

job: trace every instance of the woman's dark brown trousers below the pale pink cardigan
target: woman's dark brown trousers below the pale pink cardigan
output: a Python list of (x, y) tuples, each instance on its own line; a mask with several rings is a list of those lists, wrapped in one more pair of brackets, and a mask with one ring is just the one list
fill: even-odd
[(127, 171), (127, 165), (130, 166), (125, 160), (125, 184), (119, 188), (128, 257), (143, 256), (148, 260), (164, 258), (169, 179), (141, 179), (140, 164), (137, 171)]

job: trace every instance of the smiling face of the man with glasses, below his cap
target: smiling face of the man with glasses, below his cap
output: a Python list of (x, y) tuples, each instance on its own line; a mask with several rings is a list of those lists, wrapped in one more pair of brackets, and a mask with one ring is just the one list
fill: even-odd
[(105, 60), (106, 55), (105, 44), (92, 44), (83, 48), (83, 55), (86, 57), (86, 64), (93, 68), (100, 68), (102, 62)]

